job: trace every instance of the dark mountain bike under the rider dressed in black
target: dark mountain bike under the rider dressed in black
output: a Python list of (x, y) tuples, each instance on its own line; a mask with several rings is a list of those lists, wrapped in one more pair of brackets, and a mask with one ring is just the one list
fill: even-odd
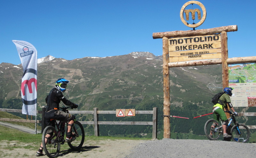
[[(66, 113), (69, 113), (68, 108), (71, 107), (60, 107), (60, 109)], [(50, 157), (54, 158), (57, 157), (60, 153), (60, 145), (63, 145), (65, 143), (65, 122), (60, 121), (57, 123), (57, 121), (54, 119), (55, 125), (57, 129), (55, 129), (52, 126), (45, 127), (42, 135), (42, 143), (45, 154)], [(82, 124), (76, 120), (74, 120), (74, 126), (72, 128), (72, 134), (73, 138), (70, 142), (68, 142), (68, 146), (71, 149), (80, 149), (84, 144), (84, 127)], [(68, 125), (68, 123), (67, 123)], [(47, 134), (50, 137), (45, 137)]]

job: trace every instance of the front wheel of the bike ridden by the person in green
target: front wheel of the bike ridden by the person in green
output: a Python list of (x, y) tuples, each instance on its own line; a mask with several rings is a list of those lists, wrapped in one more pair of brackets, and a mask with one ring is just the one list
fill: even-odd
[(249, 140), (250, 130), (245, 124), (237, 124), (231, 128), (232, 140), (245, 143)]

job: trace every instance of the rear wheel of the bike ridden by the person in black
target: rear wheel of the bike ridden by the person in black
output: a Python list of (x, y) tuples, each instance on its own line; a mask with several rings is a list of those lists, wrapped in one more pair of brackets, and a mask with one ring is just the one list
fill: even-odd
[[(45, 140), (45, 136), (49, 133), (51, 133), (52, 136)], [(43, 131), (42, 143), (44, 152), (50, 158), (57, 157), (60, 153), (60, 137), (57, 138), (57, 135), (57, 130), (52, 126), (45, 127)], [(45, 141), (47, 141), (47, 143), (45, 143)]]

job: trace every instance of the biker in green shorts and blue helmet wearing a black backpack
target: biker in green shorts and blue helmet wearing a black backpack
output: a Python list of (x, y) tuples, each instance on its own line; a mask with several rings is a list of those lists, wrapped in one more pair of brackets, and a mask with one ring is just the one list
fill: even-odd
[[(228, 110), (228, 107), (229, 107), (234, 112), (235, 115), (238, 115), (238, 113), (234, 110), (234, 107), (232, 106), (231, 100), (230, 100), (230, 96), (232, 96), (233, 89), (234, 88), (225, 87), (223, 89), (224, 94), (222, 94), (220, 97), (220, 100), (222, 101), (222, 103), (220, 103), (220, 101), (218, 101), (218, 103), (216, 105), (214, 105), (212, 108), (213, 119), (218, 122), (220, 120), (222, 121), (223, 137), (225, 137), (225, 138), (231, 137), (231, 136), (227, 133), (228, 119), (224, 112), (224, 109), (226, 111), (228, 111), (228, 113), (231, 113)], [(217, 125), (215, 123), (213, 123), (211, 127), (215, 128), (216, 126)], [(212, 133), (210, 133), (210, 137), (212, 137)]]

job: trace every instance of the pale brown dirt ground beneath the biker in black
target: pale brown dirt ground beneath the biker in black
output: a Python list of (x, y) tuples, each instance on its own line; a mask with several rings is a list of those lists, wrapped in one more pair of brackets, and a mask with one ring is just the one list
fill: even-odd
[[(72, 157), (72, 158), (82, 158), (82, 157), (99, 157), (99, 158), (124, 158), (131, 152), (132, 147), (144, 142), (144, 140), (99, 140), (99, 141), (86, 141), (84, 146), (80, 151), (61, 150), (58, 157)], [(6, 149), (10, 146), (21, 146), (20, 148)], [(1, 142), (0, 146), (0, 157), (36, 157), (36, 151), (31, 149), (25, 149), (22, 146), (29, 146), (29, 144), (16, 144), (15, 142)], [(34, 145), (33, 145), (34, 146)], [(44, 152), (43, 152), (44, 154)], [(48, 157), (43, 155), (40, 157)]]

